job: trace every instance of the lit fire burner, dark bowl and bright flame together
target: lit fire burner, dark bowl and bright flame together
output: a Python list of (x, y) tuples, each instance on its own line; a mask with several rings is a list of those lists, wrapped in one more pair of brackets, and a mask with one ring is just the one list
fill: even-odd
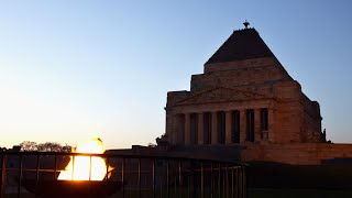
[[(24, 188), (38, 197), (108, 197), (119, 189), (117, 182), (108, 182), (109, 172), (113, 168), (100, 156), (105, 152), (102, 141), (92, 139), (74, 147), (74, 153), (82, 156), (70, 156), (69, 163), (54, 180), (24, 179)], [(87, 156), (88, 155), (88, 156)], [(57, 158), (55, 160), (55, 162)], [(40, 163), (37, 163), (40, 164)], [(55, 163), (56, 164), (56, 163)], [(57, 166), (57, 164), (55, 165)], [(54, 172), (56, 176), (56, 170)], [(107, 180), (103, 180), (107, 178)], [(121, 186), (121, 185), (120, 185)]]

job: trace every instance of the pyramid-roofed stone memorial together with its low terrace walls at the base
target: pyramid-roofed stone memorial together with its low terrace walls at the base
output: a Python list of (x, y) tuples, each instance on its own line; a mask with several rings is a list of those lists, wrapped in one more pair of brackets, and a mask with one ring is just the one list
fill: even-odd
[(318, 165), (352, 160), (352, 144), (321, 132), (320, 107), (302, 91), (255, 29), (233, 34), (193, 75), (190, 90), (167, 94), (166, 132), (156, 147), (114, 153)]

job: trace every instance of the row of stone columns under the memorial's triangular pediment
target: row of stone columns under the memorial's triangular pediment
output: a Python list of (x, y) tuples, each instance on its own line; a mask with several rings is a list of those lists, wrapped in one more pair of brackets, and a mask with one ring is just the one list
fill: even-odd
[(174, 116), (172, 140), (185, 145), (268, 141), (272, 125), (267, 108), (185, 112)]

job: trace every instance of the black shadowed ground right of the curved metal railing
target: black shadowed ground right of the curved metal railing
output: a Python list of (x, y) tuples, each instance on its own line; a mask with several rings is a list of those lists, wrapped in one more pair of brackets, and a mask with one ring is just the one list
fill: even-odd
[(352, 165), (252, 162), (249, 198), (352, 198)]

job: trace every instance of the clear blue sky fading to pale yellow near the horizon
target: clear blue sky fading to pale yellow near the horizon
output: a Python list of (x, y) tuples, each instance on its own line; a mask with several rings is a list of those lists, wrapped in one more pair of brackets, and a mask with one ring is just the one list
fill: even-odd
[(155, 143), (166, 94), (244, 20), (302, 91), (334, 143), (352, 143), (350, 0), (0, 0), (0, 146)]

